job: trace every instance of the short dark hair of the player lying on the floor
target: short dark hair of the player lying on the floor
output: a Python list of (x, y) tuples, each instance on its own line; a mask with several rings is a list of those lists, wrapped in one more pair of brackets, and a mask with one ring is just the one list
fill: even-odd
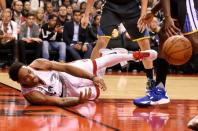
[(10, 66), (9, 68), (10, 79), (12, 79), (13, 81), (18, 81), (19, 70), (21, 69), (23, 65), (24, 65), (23, 63), (15, 62)]

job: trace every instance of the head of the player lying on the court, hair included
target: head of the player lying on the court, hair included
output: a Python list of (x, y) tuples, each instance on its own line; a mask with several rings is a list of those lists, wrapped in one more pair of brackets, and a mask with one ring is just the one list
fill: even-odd
[(23, 86), (35, 86), (39, 78), (24, 64), (16, 62), (9, 69), (9, 77)]

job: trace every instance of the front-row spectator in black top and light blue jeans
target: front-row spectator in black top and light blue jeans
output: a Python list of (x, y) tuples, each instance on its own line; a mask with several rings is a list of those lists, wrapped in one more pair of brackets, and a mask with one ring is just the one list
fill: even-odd
[(59, 51), (59, 62), (64, 62), (66, 58), (66, 44), (62, 42), (62, 27), (57, 26), (57, 16), (52, 14), (48, 17), (48, 23), (41, 28), (41, 38), (43, 40), (43, 58), (49, 59), (49, 50)]

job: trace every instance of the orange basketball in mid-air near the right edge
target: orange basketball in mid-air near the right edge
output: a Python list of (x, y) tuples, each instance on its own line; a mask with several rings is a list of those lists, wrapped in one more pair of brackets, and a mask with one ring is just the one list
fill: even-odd
[(182, 65), (191, 58), (192, 45), (184, 36), (175, 35), (164, 42), (163, 52), (169, 64)]

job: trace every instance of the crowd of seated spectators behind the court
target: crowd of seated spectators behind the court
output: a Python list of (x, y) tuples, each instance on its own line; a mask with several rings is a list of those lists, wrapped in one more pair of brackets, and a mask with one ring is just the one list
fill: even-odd
[[(157, 0), (149, 0), (148, 11)], [(86, 0), (2, 0), (0, 3), (0, 61), (20, 61), (29, 64), (36, 58), (69, 62), (90, 58), (97, 40), (103, 0), (96, 0), (90, 13), (89, 26), (81, 27)], [(162, 14), (150, 26), (151, 47), (158, 48)], [(108, 48), (139, 50), (137, 43), (122, 25), (112, 32)], [(6, 51), (10, 51), (8, 55)], [(3, 55), (4, 53), (4, 55)], [(30, 54), (30, 55), (29, 55)], [(137, 64), (137, 63), (136, 63)], [(133, 63), (132, 70), (143, 70)], [(178, 67), (170, 68), (173, 71)]]

